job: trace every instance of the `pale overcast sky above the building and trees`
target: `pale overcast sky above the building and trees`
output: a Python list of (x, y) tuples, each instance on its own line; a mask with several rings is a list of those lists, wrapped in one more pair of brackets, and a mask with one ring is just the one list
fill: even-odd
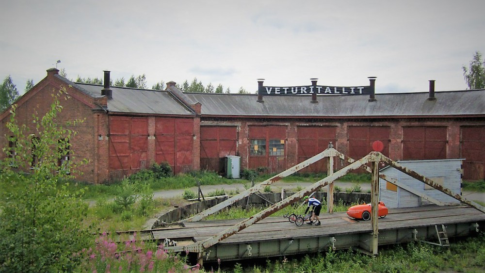
[(0, 77), (20, 94), (46, 70), (69, 79), (197, 77), (236, 93), (264, 85), (369, 85), (376, 93), (464, 90), (485, 54), (484, 0), (8, 0)]

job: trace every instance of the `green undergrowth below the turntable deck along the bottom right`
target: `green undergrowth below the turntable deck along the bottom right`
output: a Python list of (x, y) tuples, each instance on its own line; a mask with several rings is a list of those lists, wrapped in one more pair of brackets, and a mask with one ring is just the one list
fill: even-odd
[[(332, 251), (306, 255), (302, 258), (280, 257), (267, 259), (266, 264), (252, 264), (243, 267), (231, 265), (221, 272), (483, 272), (485, 270), (485, 234), (465, 241), (457, 241), (450, 248), (412, 242), (381, 248), (379, 256), (370, 257), (350, 250)], [(472, 255), (476, 253), (476, 255)]]

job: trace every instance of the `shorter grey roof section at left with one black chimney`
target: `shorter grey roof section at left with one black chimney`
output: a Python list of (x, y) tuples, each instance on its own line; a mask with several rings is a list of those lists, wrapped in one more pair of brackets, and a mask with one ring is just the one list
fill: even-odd
[[(103, 86), (77, 83), (85, 91), (101, 96)], [(108, 111), (142, 114), (173, 114), (194, 115), (188, 107), (185, 107), (178, 99), (167, 91), (135, 89), (127, 87), (110, 87), (113, 90), (113, 98), (108, 99)]]

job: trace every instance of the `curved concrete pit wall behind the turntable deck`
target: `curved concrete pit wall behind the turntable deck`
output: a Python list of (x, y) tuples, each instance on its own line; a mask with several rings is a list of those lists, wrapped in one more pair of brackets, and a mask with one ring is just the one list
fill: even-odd
[[(261, 197), (264, 199), (270, 201), (271, 203), (277, 203), (281, 201), (281, 193), (258, 193)], [(292, 192), (285, 192), (284, 193), (284, 198), (287, 198), (288, 196), (291, 196)], [(249, 195), (249, 202), (248, 198), (243, 198), (242, 200), (239, 200), (236, 202), (233, 206), (238, 206), (238, 207), (245, 207), (247, 205), (253, 206), (253, 207), (262, 207), (262, 206), (270, 206), (272, 204), (268, 203), (266, 200), (261, 198), (257, 194), (251, 194)], [(313, 195), (313, 197), (319, 199), (319, 200), (326, 200), (327, 193), (324, 192), (317, 192)], [(152, 229), (154, 228), (160, 228), (165, 226), (166, 224), (169, 223), (174, 223), (177, 221), (180, 221), (182, 219), (185, 219), (191, 215), (194, 215), (196, 213), (199, 213), (203, 210), (209, 209), (210, 207), (213, 207), (223, 201), (225, 201), (227, 197), (220, 197), (216, 199), (210, 199), (206, 201), (200, 201), (196, 202), (193, 204), (189, 204), (184, 207), (179, 207), (176, 209), (173, 209), (171, 211), (166, 212), (162, 216), (160, 216), (155, 223), (152, 225)], [(370, 193), (334, 193), (334, 200), (335, 204), (342, 202), (343, 204), (362, 204), (362, 203), (370, 203), (371, 202), (371, 194)], [(339, 201), (341, 200), (341, 201)]]

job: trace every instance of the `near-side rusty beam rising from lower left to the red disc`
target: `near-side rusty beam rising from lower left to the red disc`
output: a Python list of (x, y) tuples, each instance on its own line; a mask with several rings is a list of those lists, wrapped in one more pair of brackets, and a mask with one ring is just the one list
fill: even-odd
[(293, 195), (287, 197), (286, 199), (276, 203), (275, 205), (260, 211), (259, 213), (249, 217), (248, 219), (243, 220), (242, 222), (238, 223), (237, 225), (230, 226), (220, 232), (219, 234), (213, 236), (204, 241), (196, 242), (191, 245), (184, 246), (185, 251), (189, 252), (202, 252), (204, 249), (209, 248), (210, 246), (230, 237), (231, 235), (245, 229), (248, 226), (251, 226), (260, 220), (268, 217), (269, 215), (273, 214), (275, 211), (283, 209), (294, 202), (301, 200), (305, 195), (318, 191), (320, 188), (325, 187), (329, 183), (332, 183), (334, 180), (348, 174), (352, 170), (356, 170), (360, 168), (362, 165), (369, 163), (371, 161), (378, 160), (378, 154), (376, 152), (372, 152), (367, 156), (363, 157), (362, 159), (340, 169), (339, 171), (335, 172), (334, 174), (323, 178), (322, 180), (316, 182), (315, 184), (308, 186), (307, 188), (303, 189), (298, 193), (294, 193)]

